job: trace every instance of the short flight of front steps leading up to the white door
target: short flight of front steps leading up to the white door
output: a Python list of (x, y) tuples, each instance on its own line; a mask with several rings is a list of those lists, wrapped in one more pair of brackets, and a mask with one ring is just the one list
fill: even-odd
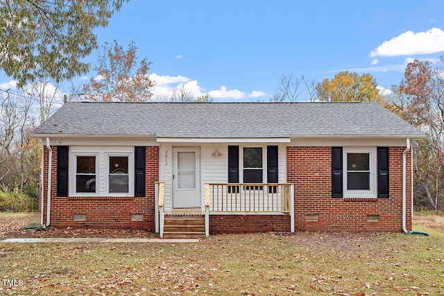
[(164, 238), (203, 238), (205, 237), (205, 216), (166, 215), (164, 218)]

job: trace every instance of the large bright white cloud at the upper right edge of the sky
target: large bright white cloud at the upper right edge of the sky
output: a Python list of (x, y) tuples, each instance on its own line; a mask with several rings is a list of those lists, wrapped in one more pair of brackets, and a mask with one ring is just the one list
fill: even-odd
[(407, 31), (398, 37), (382, 42), (370, 56), (398, 56), (439, 53), (444, 51), (444, 31), (431, 28), (426, 32)]

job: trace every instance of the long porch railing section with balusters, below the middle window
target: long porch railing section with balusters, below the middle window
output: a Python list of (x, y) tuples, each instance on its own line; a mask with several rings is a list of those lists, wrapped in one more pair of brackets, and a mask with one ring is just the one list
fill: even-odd
[(289, 183), (205, 184), (210, 211), (290, 213), (294, 185)]

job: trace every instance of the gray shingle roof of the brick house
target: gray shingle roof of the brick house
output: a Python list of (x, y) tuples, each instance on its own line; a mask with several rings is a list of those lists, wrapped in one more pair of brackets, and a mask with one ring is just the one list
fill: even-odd
[(179, 138), (424, 137), (377, 103), (67, 103), (43, 135)]

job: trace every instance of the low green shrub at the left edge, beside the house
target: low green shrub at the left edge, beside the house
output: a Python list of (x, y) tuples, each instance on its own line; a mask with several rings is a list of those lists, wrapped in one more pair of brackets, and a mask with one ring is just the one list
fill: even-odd
[(33, 202), (26, 194), (20, 194), (18, 189), (8, 190), (6, 186), (0, 188), (0, 211), (31, 211), (35, 207)]

